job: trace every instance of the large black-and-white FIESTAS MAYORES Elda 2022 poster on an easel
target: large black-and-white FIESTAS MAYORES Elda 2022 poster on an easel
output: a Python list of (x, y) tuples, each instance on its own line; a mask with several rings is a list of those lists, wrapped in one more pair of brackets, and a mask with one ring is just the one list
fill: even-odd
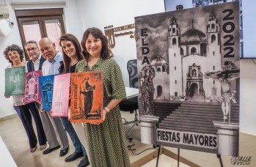
[(239, 2), (135, 18), (142, 142), (238, 155)]

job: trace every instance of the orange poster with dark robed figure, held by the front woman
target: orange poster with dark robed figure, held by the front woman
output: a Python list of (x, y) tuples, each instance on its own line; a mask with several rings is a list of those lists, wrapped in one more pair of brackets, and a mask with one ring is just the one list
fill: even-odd
[(71, 74), (70, 122), (103, 122), (103, 71)]

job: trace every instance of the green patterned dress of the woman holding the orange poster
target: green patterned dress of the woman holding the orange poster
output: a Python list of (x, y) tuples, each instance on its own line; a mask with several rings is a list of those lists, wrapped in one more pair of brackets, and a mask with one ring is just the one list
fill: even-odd
[[(97, 70), (103, 70), (104, 106), (112, 99), (126, 97), (122, 73), (114, 59), (99, 59), (91, 70), (84, 60), (76, 65), (76, 73)], [(106, 114), (102, 124), (84, 124), (84, 133), (93, 167), (131, 166), (119, 105)]]

